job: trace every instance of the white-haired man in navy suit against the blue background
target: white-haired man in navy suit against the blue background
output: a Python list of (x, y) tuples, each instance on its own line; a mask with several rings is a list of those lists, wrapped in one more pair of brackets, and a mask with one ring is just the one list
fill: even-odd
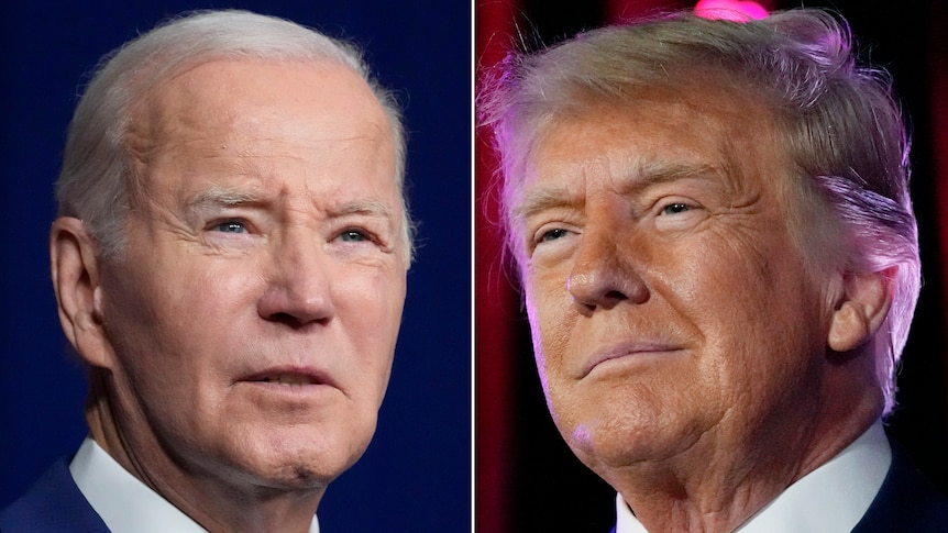
[(77, 107), (51, 260), (89, 437), (15, 531), (318, 531), (375, 431), (411, 260), (397, 107), (360, 54), (199, 12)]

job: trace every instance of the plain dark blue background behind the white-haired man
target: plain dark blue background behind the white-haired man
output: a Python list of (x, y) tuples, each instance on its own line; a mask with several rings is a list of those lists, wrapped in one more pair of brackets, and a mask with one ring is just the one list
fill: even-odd
[(417, 263), (375, 440), (319, 508), (324, 532), (466, 529), (471, 517), (467, 2), (158, 0), (0, 7), (0, 508), (86, 434), (85, 373), (60, 333), (47, 233), (65, 131), (99, 57), (191, 9), (284, 16), (367, 48), (409, 132)]

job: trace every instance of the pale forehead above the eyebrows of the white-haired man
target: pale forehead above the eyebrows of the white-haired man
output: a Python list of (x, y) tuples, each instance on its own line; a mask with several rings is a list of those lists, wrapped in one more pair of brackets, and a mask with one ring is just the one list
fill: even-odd
[(139, 179), (162, 157), (298, 156), (330, 144), (390, 156), (395, 184), (385, 112), (365, 80), (338, 64), (203, 63), (150, 90), (125, 135)]

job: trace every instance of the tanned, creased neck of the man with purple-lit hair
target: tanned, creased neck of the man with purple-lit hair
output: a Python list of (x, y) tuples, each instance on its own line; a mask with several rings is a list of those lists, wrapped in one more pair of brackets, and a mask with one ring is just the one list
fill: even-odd
[(775, 444), (735, 446), (707, 435), (675, 457), (600, 475), (650, 532), (731, 532), (864, 433), (880, 401), (866, 397), (845, 421), (827, 419)]

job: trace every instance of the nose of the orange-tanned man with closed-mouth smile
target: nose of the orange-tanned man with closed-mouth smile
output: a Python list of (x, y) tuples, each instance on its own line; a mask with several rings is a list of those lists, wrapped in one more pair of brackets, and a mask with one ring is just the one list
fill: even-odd
[(632, 241), (609, 229), (587, 227), (576, 251), (566, 288), (583, 314), (621, 302), (644, 303), (649, 288), (636, 267)]

